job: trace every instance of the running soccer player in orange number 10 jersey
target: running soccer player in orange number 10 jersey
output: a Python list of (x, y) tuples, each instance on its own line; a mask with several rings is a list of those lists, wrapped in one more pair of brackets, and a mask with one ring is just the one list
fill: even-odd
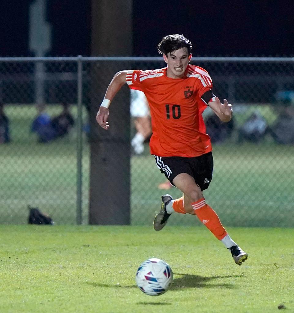
[(212, 146), (206, 134), (202, 113), (207, 105), (223, 122), (232, 118), (232, 105), (212, 93), (212, 79), (205, 69), (190, 65), (191, 42), (183, 35), (168, 35), (158, 44), (167, 64), (155, 70), (126, 70), (114, 75), (97, 113), (98, 124), (108, 129), (108, 107), (117, 91), (127, 83), (145, 93), (151, 112), (151, 154), (157, 167), (184, 195), (162, 196), (154, 229), (161, 230), (174, 212), (197, 215), (200, 221), (232, 253), (236, 264), (247, 259), (228, 235), (217, 214), (205, 202), (202, 191), (212, 180)]

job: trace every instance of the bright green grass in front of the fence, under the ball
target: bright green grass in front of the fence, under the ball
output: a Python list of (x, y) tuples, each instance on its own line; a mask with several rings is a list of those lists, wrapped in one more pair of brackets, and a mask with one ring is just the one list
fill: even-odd
[[(294, 230), (229, 228), (238, 266), (204, 227), (0, 226), (1, 313), (294, 312)], [(172, 288), (135, 285), (139, 264), (166, 260)]]

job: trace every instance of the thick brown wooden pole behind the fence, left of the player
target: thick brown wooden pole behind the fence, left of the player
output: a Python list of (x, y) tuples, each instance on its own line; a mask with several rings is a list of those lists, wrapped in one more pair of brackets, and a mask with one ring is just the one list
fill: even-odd
[[(132, 55), (132, 1), (92, 1), (92, 56)], [(108, 131), (95, 117), (118, 62), (91, 64), (91, 163), (89, 224), (130, 223), (129, 90), (123, 86), (109, 109)], [(127, 66), (127, 64), (125, 65)], [(127, 68), (126, 68), (127, 69)]]

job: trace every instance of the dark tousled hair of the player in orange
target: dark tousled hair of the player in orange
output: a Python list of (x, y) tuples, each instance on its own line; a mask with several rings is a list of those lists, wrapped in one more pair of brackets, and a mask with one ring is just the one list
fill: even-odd
[(187, 48), (188, 54), (190, 54), (192, 44), (190, 40), (184, 37), (184, 35), (179, 34), (167, 35), (163, 37), (157, 46), (158, 52), (165, 55), (181, 48)]

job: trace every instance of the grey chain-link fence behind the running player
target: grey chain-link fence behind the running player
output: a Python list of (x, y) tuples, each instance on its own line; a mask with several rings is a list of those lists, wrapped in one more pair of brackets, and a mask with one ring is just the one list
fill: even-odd
[[(117, 71), (162, 68), (162, 58), (0, 58), (0, 64), (0, 223), (26, 223), (31, 205), (58, 224), (87, 224), (89, 195), (103, 180), (95, 172), (102, 165), (90, 166), (90, 148), (97, 136), (108, 138), (95, 125), (94, 112)], [(209, 72), (214, 94), (234, 109), (227, 124), (209, 108), (203, 115), (215, 162), (207, 203), (228, 226), (293, 227), (294, 59), (194, 58), (192, 64)], [(112, 135), (130, 133), (124, 137), (129, 143), (117, 140), (121, 148), (105, 171), (130, 163), (114, 196), (128, 198), (123, 186), (130, 177), (131, 223), (151, 224), (161, 195), (181, 192), (157, 169), (149, 136), (141, 138), (139, 150), (130, 144), (138, 130), (127, 86), (116, 99), (120, 104), (110, 108), (109, 122), (121, 126)], [(169, 223), (197, 221), (175, 214)]]

